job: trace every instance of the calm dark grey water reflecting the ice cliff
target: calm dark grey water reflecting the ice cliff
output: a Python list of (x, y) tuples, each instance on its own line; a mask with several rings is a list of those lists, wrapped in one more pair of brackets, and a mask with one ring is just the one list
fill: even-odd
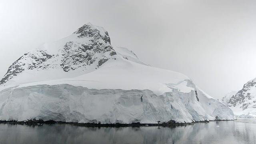
[(256, 119), (176, 128), (0, 124), (0, 144), (256, 144)]

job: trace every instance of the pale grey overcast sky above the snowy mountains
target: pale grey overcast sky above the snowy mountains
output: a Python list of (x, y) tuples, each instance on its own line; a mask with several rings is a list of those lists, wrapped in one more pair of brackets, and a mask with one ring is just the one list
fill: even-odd
[(0, 0), (0, 77), (26, 51), (88, 22), (214, 98), (256, 77), (256, 0)]

